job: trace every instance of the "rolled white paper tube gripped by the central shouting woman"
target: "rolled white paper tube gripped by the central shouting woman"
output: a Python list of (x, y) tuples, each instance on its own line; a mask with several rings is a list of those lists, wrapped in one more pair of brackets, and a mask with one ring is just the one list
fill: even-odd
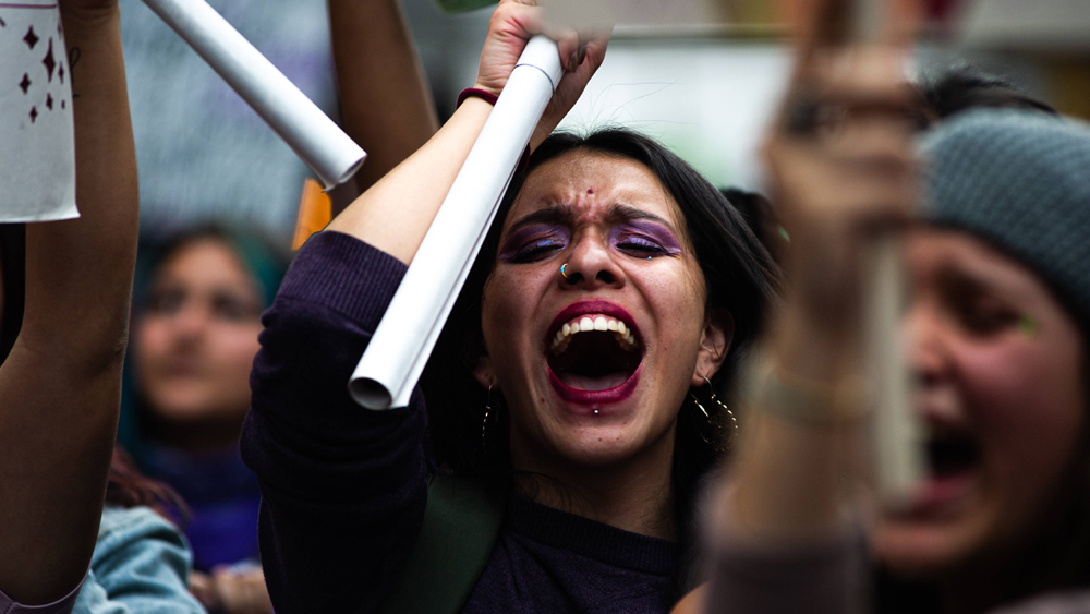
[(409, 405), (561, 74), (556, 43), (532, 38), (352, 374), (349, 392), (360, 405)]

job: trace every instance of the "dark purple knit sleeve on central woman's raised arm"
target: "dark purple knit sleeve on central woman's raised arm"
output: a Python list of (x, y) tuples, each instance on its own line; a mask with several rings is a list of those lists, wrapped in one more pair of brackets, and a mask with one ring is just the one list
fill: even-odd
[(347, 234), (300, 251), (250, 383), (242, 456), (262, 486), (259, 539), (277, 612), (367, 612), (415, 544), (426, 499), (425, 411), (371, 411), (348, 381), (405, 265)]

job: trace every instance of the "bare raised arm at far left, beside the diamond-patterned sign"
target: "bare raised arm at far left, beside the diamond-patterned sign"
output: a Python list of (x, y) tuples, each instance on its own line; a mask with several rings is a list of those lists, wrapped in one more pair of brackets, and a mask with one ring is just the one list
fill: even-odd
[[(136, 257), (136, 155), (117, 0), (60, 0), (81, 217), (26, 228), (23, 328), (0, 368), (0, 590), (73, 590), (95, 547)], [(78, 52), (75, 50), (78, 49)]]

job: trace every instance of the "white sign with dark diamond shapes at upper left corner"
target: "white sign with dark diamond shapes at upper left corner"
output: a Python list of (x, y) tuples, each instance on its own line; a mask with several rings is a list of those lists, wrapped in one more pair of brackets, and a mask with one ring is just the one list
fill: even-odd
[(78, 217), (57, 0), (0, 0), (0, 221)]

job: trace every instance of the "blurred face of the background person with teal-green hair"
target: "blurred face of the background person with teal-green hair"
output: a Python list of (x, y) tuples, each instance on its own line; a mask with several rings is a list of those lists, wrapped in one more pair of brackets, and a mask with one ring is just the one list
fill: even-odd
[(241, 425), (264, 306), (220, 239), (195, 239), (162, 262), (134, 330), (137, 384), (157, 420)]

